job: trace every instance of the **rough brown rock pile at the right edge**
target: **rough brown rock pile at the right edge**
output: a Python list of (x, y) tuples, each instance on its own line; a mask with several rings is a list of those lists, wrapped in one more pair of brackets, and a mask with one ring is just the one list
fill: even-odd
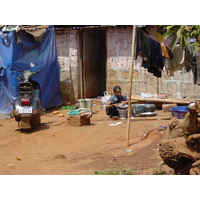
[(200, 102), (191, 103), (184, 119), (172, 117), (159, 145), (163, 162), (176, 174), (200, 174)]

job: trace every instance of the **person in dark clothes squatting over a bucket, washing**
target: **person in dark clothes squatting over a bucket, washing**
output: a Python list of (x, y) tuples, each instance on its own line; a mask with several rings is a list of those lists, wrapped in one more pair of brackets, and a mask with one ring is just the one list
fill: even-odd
[(126, 104), (127, 97), (121, 95), (121, 88), (119, 86), (115, 86), (113, 88), (114, 95), (110, 97), (108, 103), (106, 104), (106, 114), (112, 118), (113, 116), (119, 116), (119, 112), (117, 110), (118, 103)]

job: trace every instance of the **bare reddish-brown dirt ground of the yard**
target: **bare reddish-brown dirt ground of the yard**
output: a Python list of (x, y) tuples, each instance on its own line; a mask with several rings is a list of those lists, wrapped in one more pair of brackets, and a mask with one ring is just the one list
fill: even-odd
[[(0, 174), (88, 175), (116, 165), (136, 169), (138, 175), (153, 174), (162, 162), (158, 145), (169, 120), (131, 119), (127, 147), (127, 120), (114, 121), (101, 107), (94, 102), (91, 124), (81, 127), (67, 125), (69, 110), (60, 108), (48, 110), (41, 126), (30, 132), (21, 131), (14, 118), (0, 120)], [(53, 115), (55, 110), (64, 117)], [(170, 113), (158, 110), (159, 116)], [(116, 122), (122, 124), (109, 126)]]

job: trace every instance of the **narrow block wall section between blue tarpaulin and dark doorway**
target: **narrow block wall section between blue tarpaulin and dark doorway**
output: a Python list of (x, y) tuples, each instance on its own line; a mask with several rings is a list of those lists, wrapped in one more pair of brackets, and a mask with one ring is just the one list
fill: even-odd
[(57, 54), (60, 63), (60, 86), (64, 103), (78, 99), (78, 31), (56, 32)]

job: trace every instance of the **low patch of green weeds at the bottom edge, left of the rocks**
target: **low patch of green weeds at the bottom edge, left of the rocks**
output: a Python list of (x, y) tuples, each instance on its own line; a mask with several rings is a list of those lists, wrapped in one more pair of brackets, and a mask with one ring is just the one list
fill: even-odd
[(135, 175), (137, 170), (126, 168), (125, 166), (115, 166), (104, 171), (95, 170), (91, 175)]

